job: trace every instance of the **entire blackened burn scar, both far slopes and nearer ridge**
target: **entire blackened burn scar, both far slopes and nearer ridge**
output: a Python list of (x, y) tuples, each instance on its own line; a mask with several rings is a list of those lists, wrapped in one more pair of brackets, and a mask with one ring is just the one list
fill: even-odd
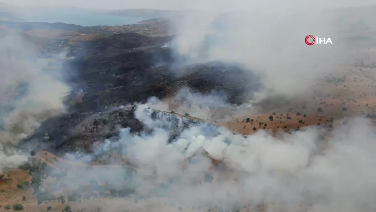
[[(223, 92), (230, 103), (241, 104), (250, 91), (260, 88), (257, 76), (236, 65), (175, 63), (176, 55), (165, 47), (171, 39), (124, 33), (70, 46), (67, 57), (74, 60), (66, 61), (62, 68), (67, 70), (74, 93), (82, 92), (70, 95), (67, 114), (42, 123), (23, 145), (44, 140), (55, 153), (90, 151), (93, 142), (116, 136), (119, 126), (130, 127), (132, 132), (143, 129), (133, 116), (134, 108), (107, 112), (111, 108), (144, 103), (153, 96), (165, 98), (187, 87), (201, 93)], [(41, 150), (45, 146), (39, 143), (35, 147)]]

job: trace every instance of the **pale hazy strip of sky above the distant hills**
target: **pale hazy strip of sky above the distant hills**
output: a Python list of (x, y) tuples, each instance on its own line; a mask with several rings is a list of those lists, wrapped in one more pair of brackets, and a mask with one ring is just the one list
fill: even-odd
[(375, 0), (0, 0), (3, 3), (24, 6), (76, 6), (95, 9), (320, 9), (341, 6), (363, 6), (376, 4)]

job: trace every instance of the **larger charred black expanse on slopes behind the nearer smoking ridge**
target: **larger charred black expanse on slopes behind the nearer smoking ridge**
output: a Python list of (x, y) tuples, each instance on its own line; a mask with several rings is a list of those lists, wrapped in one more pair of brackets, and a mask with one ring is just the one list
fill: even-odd
[(163, 47), (171, 39), (123, 33), (72, 46), (68, 57), (76, 59), (64, 69), (74, 70), (68, 81), (87, 92), (76, 109), (98, 111), (109, 105), (144, 102), (181, 87), (224, 91), (230, 102), (242, 103), (246, 95), (259, 89), (258, 77), (237, 65), (177, 66), (172, 50)]

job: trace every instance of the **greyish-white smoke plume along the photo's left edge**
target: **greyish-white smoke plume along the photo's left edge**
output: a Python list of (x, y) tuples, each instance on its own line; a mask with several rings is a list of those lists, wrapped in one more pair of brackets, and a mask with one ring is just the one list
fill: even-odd
[(22, 156), (23, 160), (14, 160), (21, 156), (9, 156), (13, 151), (3, 152), (3, 146), (12, 149), (32, 134), (42, 121), (65, 111), (62, 100), (70, 89), (59, 80), (59, 73), (44, 70), (48, 61), (37, 58), (40, 50), (30, 37), (20, 32), (2, 31), (0, 171), (15, 167), (27, 158)]

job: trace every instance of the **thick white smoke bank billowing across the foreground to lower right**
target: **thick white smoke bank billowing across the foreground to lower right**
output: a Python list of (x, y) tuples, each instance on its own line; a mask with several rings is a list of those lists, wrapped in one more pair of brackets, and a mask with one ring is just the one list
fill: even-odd
[[(353, 118), (332, 132), (307, 127), (277, 137), (263, 130), (243, 136), (206, 123), (183, 128), (187, 118), (155, 112), (148, 109), (151, 106), (138, 105), (135, 117), (152, 133), (130, 134), (129, 128), (122, 129), (120, 139), (107, 140), (84, 160), (76, 160), (87, 163), (97, 155), (121, 152), (123, 160), (138, 167), (137, 174), (127, 178), (136, 187), (134, 198), (166, 197), (183, 207), (231, 209), (271, 203), (294, 211), (309, 203), (309, 212), (376, 209), (375, 130), (368, 120)], [(178, 121), (171, 121), (172, 117)], [(178, 128), (182, 132), (171, 143), (170, 135)], [(321, 140), (324, 133), (327, 140)], [(222, 164), (213, 167), (205, 152)], [(70, 166), (67, 173), (62, 181), (100, 179), (115, 187), (126, 176), (120, 165), (85, 171)], [(212, 182), (205, 181), (208, 173)]]

